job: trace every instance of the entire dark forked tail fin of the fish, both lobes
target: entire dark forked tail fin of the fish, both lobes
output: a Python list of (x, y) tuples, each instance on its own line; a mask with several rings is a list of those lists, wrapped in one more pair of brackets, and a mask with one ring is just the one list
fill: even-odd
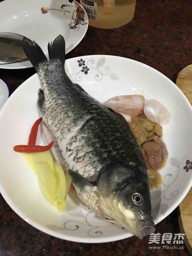
[[(47, 63), (47, 57), (42, 51), (41, 47), (30, 39), (23, 37), (22, 46), (25, 54), (35, 68), (36, 72), (39, 71), (39, 66)], [(60, 60), (61, 64), (65, 64), (65, 40), (64, 37), (59, 35), (55, 40), (48, 44), (48, 52), (50, 60)]]

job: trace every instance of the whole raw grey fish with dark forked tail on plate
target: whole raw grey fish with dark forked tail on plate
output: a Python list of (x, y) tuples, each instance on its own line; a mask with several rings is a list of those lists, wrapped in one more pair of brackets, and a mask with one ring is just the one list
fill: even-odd
[(124, 117), (69, 79), (61, 35), (48, 44), (49, 61), (25, 37), (23, 49), (42, 83), (43, 121), (57, 140), (79, 198), (140, 239), (154, 232), (146, 165)]

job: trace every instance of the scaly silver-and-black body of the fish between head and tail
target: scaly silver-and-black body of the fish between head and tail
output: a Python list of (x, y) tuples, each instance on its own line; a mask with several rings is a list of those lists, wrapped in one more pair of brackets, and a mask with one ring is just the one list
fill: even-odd
[[(60, 141), (58, 144), (62, 156), (72, 171), (94, 182), (100, 168), (112, 158), (142, 165), (140, 149), (128, 125), (124, 131), (114, 119), (113, 112), (76, 88), (71, 81), (71, 87), (66, 86), (66, 80), (69, 80), (58, 77), (59, 72), (54, 80), (47, 68), (42, 67), (40, 74), (44, 86), (48, 88), (44, 94), (43, 118)], [(49, 86), (59, 78), (61, 80), (57, 86)]]

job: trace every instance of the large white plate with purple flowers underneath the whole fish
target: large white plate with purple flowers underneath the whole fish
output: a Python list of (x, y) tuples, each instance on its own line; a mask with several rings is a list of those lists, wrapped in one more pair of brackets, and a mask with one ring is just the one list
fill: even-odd
[[(77, 60), (81, 59), (89, 68), (87, 74), (81, 71), (83, 66), (79, 67)], [(192, 185), (192, 170), (183, 169), (187, 160), (192, 161), (192, 107), (187, 98), (160, 72), (122, 57), (73, 58), (66, 61), (66, 69), (74, 82), (100, 102), (115, 95), (143, 93), (147, 99), (159, 100), (171, 112), (171, 120), (164, 126), (169, 157), (160, 171), (163, 185), (151, 192), (152, 216), (155, 224), (160, 222), (180, 204)], [(36, 175), (13, 151), (14, 145), (27, 144), (31, 126), (41, 116), (37, 108), (40, 86), (37, 74), (31, 76), (11, 95), (0, 113), (0, 191), (4, 199), (28, 223), (62, 239), (101, 243), (132, 236), (131, 232), (106, 223), (70, 194), (67, 212), (57, 212), (42, 195)], [(39, 136), (37, 143), (43, 144), (44, 138)]]

